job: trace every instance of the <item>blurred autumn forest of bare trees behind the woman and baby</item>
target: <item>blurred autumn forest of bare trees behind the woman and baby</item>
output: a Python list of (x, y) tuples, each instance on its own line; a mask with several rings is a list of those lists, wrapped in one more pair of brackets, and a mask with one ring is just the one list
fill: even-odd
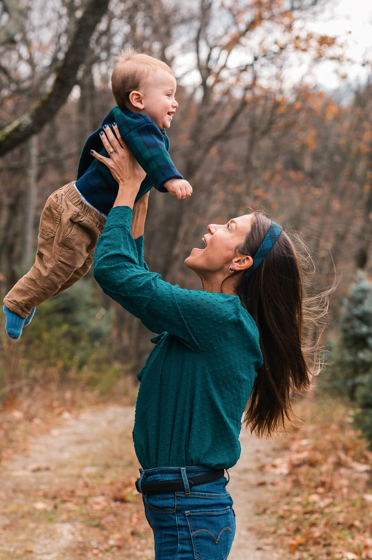
[[(332, 284), (336, 267), (333, 329), (356, 270), (370, 267), (372, 112), (369, 83), (351, 94), (349, 85), (349, 95), (338, 97), (306, 80), (288, 83), (286, 68), (299, 66), (301, 57), (309, 71), (321, 60), (338, 61), (342, 76), (341, 42), (306, 27), (326, 6), (323, 0), (2, 2), (1, 296), (33, 262), (46, 198), (76, 177), (85, 139), (113, 105), (114, 54), (135, 45), (175, 68), (180, 107), (169, 129), (171, 156), (194, 188), (181, 202), (151, 194), (144, 241), (150, 269), (199, 288), (183, 261), (192, 246), (203, 245), (208, 223), (262, 204), (305, 236), (319, 268), (318, 289)], [(90, 272), (40, 306), (19, 342), (2, 329), (0, 382), (5, 394), (32, 380), (116, 387), (123, 370), (142, 367), (149, 338)]]

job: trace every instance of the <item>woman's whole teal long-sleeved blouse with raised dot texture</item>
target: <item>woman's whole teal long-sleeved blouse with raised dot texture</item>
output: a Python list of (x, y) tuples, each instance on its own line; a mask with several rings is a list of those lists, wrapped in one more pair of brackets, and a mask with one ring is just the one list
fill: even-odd
[(262, 366), (255, 321), (238, 296), (183, 290), (150, 272), (133, 211), (112, 208), (98, 238), (93, 276), (157, 333), (142, 370), (133, 430), (143, 469), (206, 466), (239, 459), (241, 418)]

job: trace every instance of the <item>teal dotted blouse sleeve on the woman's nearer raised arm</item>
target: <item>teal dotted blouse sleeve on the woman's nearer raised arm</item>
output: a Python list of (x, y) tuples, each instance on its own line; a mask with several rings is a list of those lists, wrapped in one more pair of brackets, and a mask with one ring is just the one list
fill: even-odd
[[(112, 208), (98, 237), (93, 276), (114, 300), (138, 317), (153, 333), (167, 331), (194, 351), (214, 347), (227, 312), (228, 298), (182, 290), (150, 272), (138, 253), (140, 241), (130, 234), (133, 211)], [(147, 267), (147, 268), (146, 268)], [(234, 297), (234, 296), (231, 296)]]

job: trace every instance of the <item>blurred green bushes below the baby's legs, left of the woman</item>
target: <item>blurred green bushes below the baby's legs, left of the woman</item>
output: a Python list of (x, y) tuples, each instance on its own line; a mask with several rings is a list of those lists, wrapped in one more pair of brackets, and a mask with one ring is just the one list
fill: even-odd
[(37, 307), (20, 340), (7, 341), (13, 352), (4, 353), (8, 367), (0, 362), (0, 386), (9, 381), (2, 375), (5, 369), (12, 372), (12, 384), (26, 379), (31, 384), (72, 382), (102, 393), (114, 389), (131, 363), (115, 361), (114, 311), (97, 305), (96, 291), (93, 278), (85, 277)]

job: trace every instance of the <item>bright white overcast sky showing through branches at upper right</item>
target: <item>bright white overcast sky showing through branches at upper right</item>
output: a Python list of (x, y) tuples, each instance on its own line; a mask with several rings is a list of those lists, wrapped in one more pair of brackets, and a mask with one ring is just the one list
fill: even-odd
[[(292, 52), (287, 54), (285, 66), (281, 69), (284, 75), (285, 88), (288, 90), (296, 83), (303, 81), (309, 86), (331, 92), (341, 86), (342, 96), (347, 100), (347, 90), (351, 86), (354, 88), (357, 83), (364, 83), (371, 72), (372, 66), (372, 0), (329, 0), (326, 8), (319, 8), (317, 16), (310, 18), (308, 15), (305, 20), (298, 20), (295, 24), (298, 30), (303, 27), (308, 31), (313, 31), (319, 35), (330, 35), (337, 38), (337, 42), (343, 45), (343, 49), (333, 48), (332, 54), (344, 52), (346, 57), (354, 62), (344, 62), (341, 64), (334, 61), (324, 61), (315, 67), (310, 66), (312, 56), (309, 53)], [(261, 36), (267, 34), (268, 27), (263, 27)], [(299, 31), (303, 35), (302, 31)], [(272, 38), (277, 39), (273, 30)], [(253, 41), (260, 39), (260, 29), (253, 36)], [(274, 40), (273, 39), (273, 40)], [(252, 48), (251, 48), (252, 46)], [(249, 57), (254, 52), (252, 45), (242, 46), (230, 57), (231, 67), (249, 62)], [(364, 60), (369, 60), (369, 65), (362, 66)], [(195, 68), (195, 53), (182, 53), (176, 58), (176, 75), (180, 76), (188, 68)], [(178, 67), (178, 68), (177, 68)], [(311, 69), (310, 69), (311, 68)], [(346, 80), (342, 80), (340, 75), (344, 74)], [(272, 85), (272, 68), (266, 68), (260, 72), (260, 81), (263, 86)], [(182, 79), (184, 85), (195, 85), (200, 82), (200, 75), (196, 71), (191, 71)]]

